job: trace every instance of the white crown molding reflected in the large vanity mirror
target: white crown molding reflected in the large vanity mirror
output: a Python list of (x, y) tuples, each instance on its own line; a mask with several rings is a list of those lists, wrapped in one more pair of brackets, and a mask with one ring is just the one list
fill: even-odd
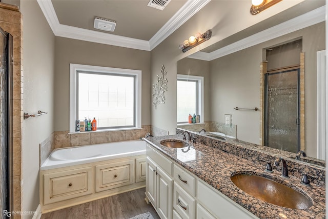
[(292, 18), (289, 21), (283, 22), (274, 27), (255, 33), (213, 52), (196, 52), (192, 55), (189, 55), (188, 57), (201, 59), (204, 61), (212, 61), (216, 58), (229, 55), (231, 53), (255, 46), (257, 44), (269, 41), (270, 39), (274, 39), (306, 27), (310, 27), (323, 21), (325, 21), (325, 6)]

